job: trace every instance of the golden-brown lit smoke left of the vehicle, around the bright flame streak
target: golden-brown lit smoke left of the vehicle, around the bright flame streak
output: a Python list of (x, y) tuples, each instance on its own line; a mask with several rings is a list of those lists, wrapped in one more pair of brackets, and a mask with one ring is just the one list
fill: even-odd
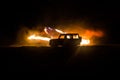
[(11, 46), (48, 46), (47, 41), (30, 41), (28, 40), (28, 36), (36, 34), (40, 36), (49, 37), (43, 30), (44, 28), (41, 26), (36, 26), (33, 28), (28, 28), (26, 26), (21, 26), (19, 31), (17, 32), (16, 41)]

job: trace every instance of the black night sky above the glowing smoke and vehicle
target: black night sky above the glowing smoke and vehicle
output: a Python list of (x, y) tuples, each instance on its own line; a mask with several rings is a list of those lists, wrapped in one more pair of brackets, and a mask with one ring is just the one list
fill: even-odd
[(95, 27), (106, 31), (108, 42), (120, 43), (118, 1), (39, 0), (7, 2), (5, 5), (5, 24), (0, 31), (2, 43), (14, 41), (22, 25), (32, 28), (38, 24), (59, 25), (86, 19), (90, 24), (101, 24)]

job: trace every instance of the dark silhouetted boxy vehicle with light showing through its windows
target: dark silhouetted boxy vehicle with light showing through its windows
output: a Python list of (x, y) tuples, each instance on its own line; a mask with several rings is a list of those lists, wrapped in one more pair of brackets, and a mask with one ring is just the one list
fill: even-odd
[(78, 46), (82, 41), (82, 37), (79, 36), (78, 33), (64, 33), (60, 34), (57, 39), (51, 39), (49, 41), (49, 45), (51, 47), (59, 47), (59, 46)]

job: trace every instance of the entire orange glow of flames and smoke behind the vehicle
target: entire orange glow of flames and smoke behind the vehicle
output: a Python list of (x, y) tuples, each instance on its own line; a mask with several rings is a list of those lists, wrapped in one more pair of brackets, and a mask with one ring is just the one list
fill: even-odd
[(41, 25), (31, 29), (26, 26), (21, 27), (14, 44), (49, 46), (49, 40), (58, 38), (61, 33), (78, 33), (82, 37), (80, 45), (92, 46), (101, 44), (100, 40), (106, 36), (104, 29), (95, 28), (84, 21), (60, 24), (54, 27)]

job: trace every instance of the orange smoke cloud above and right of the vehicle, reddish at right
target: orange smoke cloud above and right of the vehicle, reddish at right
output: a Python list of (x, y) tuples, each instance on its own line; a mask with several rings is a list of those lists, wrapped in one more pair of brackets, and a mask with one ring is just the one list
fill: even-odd
[(90, 39), (91, 45), (100, 44), (101, 42), (98, 39), (105, 36), (105, 31), (103, 29), (85, 23), (59, 25), (56, 28), (66, 33), (79, 33), (82, 38)]

